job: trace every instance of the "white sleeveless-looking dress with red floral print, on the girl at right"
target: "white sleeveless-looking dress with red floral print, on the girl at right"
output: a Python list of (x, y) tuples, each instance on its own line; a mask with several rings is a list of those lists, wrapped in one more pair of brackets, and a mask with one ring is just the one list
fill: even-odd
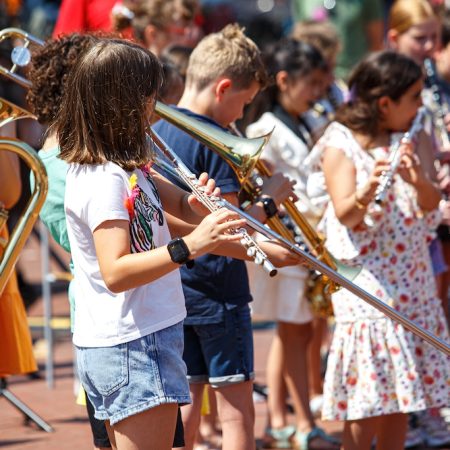
[[(357, 187), (387, 149), (363, 150), (346, 127), (332, 123), (307, 164), (308, 191), (323, 196), (321, 154), (343, 151), (356, 167)], [(322, 183), (322, 187), (320, 184)], [(364, 224), (348, 229), (329, 201), (320, 227), (338, 259), (361, 265), (355, 284), (448, 342), (428, 243), (438, 213), (423, 214), (414, 189), (398, 175), (382, 210), (370, 204)], [(450, 358), (345, 289), (333, 295), (336, 319), (324, 385), (324, 420), (356, 420), (449, 405)]]

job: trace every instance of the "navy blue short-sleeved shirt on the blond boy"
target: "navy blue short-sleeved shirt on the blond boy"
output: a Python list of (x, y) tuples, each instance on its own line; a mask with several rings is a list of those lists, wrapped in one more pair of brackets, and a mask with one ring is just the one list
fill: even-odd
[[(205, 116), (177, 109), (196, 120), (224, 130)], [(153, 129), (195, 175), (207, 172), (216, 181), (222, 194), (239, 192), (240, 184), (233, 169), (217, 153), (164, 120), (154, 124)], [(183, 187), (170, 174), (164, 175)], [(193, 268), (183, 266), (181, 279), (186, 298), (187, 325), (219, 323), (223, 320), (225, 308), (241, 306), (251, 301), (244, 261), (207, 254), (197, 258)]]

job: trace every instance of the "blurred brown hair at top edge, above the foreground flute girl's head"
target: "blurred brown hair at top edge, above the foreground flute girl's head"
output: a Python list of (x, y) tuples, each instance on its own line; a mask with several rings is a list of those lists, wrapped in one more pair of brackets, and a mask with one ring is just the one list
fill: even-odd
[(148, 25), (164, 29), (175, 21), (192, 22), (198, 9), (198, 0), (123, 0), (122, 7), (113, 10), (113, 28), (132, 27), (135, 37), (143, 41)]

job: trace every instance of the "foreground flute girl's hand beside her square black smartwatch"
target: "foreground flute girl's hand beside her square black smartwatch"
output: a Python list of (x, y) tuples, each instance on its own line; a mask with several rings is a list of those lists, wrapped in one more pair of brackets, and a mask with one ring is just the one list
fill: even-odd
[(221, 208), (206, 216), (192, 233), (183, 239), (189, 248), (192, 258), (210, 253), (223, 242), (238, 241), (241, 233), (231, 230), (242, 228), (246, 224), (235, 212)]

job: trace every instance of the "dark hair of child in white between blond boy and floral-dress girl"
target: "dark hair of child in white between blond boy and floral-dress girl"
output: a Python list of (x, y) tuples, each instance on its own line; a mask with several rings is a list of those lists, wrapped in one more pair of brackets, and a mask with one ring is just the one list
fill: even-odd
[(327, 70), (328, 66), (322, 54), (310, 44), (293, 38), (275, 42), (263, 53), (263, 60), (269, 76), (269, 86), (259, 92), (246, 108), (244, 119), (239, 126), (257, 121), (264, 112), (273, 109), (277, 103), (278, 86), (275, 77), (278, 72), (286, 71), (289, 78), (295, 80), (309, 75), (312, 71)]

